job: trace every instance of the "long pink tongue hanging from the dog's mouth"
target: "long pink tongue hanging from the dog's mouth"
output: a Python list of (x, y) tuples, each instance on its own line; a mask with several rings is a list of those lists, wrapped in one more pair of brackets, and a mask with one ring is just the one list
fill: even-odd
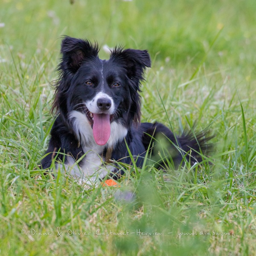
[(110, 137), (110, 116), (93, 114), (93, 137), (98, 145), (105, 145)]

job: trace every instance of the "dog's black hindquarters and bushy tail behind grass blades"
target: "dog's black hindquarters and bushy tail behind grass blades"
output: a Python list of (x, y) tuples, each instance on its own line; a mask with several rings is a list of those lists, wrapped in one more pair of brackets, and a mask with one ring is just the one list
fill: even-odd
[(143, 144), (145, 149), (150, 148), (152, 160), (157, 168), (168, 166), (173, 163), (177, 168), (183, 163), (184, 157), (191, 164), (201, 162), (202, 156), (207, 156), (212, 151), (212, 143), (209, 143), (214, 136), (210, 135), (210, 130), (194, 132), (192, 129), (185, 129), (181, 136), (175, 136), (165, 125), (155, 122), (142, 123)]

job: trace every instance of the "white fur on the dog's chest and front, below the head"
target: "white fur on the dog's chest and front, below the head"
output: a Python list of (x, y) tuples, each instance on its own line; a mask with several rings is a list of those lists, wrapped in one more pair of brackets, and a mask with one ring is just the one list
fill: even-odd
[(69, 114), (69, 119), (85, 154), (81, 164), (76, 163), (73, 157), (68, 156), (65, 161), (65, 169), (70, 175), (79, 178), (83, 182), (86, 180), (95, 181), (97, 177), (105, 177), (115, 167), (105, 165), (102, 153), (105, 148), (114, 148), (116, 143), (123, 140), (127, 134), (127, 129), (118, 122), (112, 122), (111, 136), (108, 143), (101, 146), (95, 143), (91, 125), (83, 113), (72, 111)]

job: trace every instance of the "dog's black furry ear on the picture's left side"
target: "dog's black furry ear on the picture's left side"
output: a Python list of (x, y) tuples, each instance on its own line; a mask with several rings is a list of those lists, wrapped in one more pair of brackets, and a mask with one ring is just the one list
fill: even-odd
[(59, 70), (76, 73), (82, 61), (98, 56), (98, 52), (99, 48), (96, 43), (93, 45), (87, 40), (65, 36), (61, 42), (62, 61)]

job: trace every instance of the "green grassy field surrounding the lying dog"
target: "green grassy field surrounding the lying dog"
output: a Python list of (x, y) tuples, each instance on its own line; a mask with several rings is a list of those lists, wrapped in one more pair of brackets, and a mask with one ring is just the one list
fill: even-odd
[[(2, 0), (0, 254), (256, 255), (255, 13), (255, 0)], [(148, 49), (142, 121), (197, 120), (212, 154), (126, 166), (119, 187), (41, 176), (61, 35)]]

